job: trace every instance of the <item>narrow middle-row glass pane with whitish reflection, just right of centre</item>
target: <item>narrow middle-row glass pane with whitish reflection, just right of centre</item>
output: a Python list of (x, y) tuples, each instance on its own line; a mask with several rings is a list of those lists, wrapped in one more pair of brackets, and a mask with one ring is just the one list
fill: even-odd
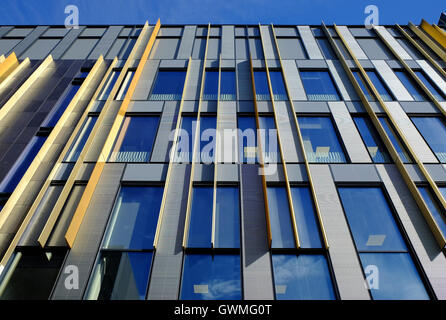
[(265, 163), (280, 162), (279, 140), (273, 117), (259, 117), (260, 142)]

